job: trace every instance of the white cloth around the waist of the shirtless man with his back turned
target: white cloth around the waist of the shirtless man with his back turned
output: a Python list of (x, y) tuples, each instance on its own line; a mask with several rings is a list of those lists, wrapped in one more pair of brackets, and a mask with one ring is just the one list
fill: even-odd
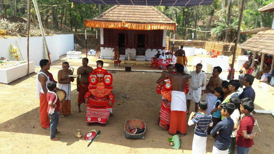
[(172, 91), (171, 92), (171, 111), (184, 111), (186, 112), (186, 95), (184, 92)]

